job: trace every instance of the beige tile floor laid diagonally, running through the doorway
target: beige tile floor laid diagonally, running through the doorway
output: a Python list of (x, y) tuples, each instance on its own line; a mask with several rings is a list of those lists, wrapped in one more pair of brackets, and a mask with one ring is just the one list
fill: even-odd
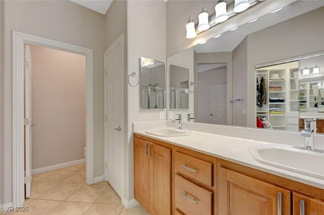
[(25, 200), (28, 212), (1, 215), (148, 215), (140, 206), (126, 210), (108, 182), (86, 184), (86, 164), (32, 176), (31, 195)]

